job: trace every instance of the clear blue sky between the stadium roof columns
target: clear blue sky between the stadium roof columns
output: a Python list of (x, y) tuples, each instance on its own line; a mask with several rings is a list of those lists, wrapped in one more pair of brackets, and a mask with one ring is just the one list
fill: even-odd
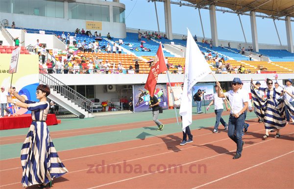
[[(125, 4), (125, 24), (128, 28), (140, 28), (141, 30), (158, 31), (154, 2), (147, 0), (120, 0)], [(163, 2), (156, 2), (159, 30), (165, 32), (165, 15)], [(198, 9), (187, 6), (171, 4), (172, 33), (187, 34), (187, 29), (194, 36), (203, 37)], [(209, 10), (200, 9), (204, 34), (211, 38)], [(237, 14), (222, 13), (217, 11), (217, 29), (219, 40), (252, 42), (250, 17), (241, 15), (241, 21), (245, 32), (242, 32)], [(282, 45), (287, 45), (285, 21), (275, 21)], [(257, 34), (259, 44), (277, 44), (279, 39), (272, 19), (256, 17)], [(294, 23), (291, 22), (292, 36), (294, 39)]]

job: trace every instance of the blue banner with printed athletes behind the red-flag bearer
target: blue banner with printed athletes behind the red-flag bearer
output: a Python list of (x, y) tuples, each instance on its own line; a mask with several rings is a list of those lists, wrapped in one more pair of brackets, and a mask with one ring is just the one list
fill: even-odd
[[(150, 94), (149, 91), (144, 88), (144, 85), (134, 85), (133, 90), (134, 112), (151, 111), (151, 109), (149, 109)], [(168, 93), (166, 84), (157, 84), (154, 96), (157, 97), (159, 106), (163, 109), (168, 108)]]

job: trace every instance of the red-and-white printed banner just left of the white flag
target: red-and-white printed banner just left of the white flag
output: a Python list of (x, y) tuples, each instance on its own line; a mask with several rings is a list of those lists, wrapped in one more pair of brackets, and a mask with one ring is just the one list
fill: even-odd
[(180, 105), (181, 105), (180, 97), (182, 96), (182, 93), (183, 93), (183, 89), (181, 87), (182, 82), (171, 82), (171, 86), (169, 86), (169, 85), (170, 84), (167, 83), (168, 98), (169, 98), (169, 108), (170, 109), (173, 108), (171, 89), (172, 89), (172, 92), (173, 92), (173, 96), (178, 99), (178, 100), (174, 101), (174, 104), (176, 105), (176, 107), (180, 107)]

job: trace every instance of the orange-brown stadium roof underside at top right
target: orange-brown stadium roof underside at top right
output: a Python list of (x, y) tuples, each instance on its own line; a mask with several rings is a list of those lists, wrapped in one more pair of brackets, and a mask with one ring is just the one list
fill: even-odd
[[(183, 0), (184, 1), (184, 0)], [(215, 4), (226, 7), (238, 14), (249, 11), (260, 12), (272, 18), (294, 17), (294, 0), (185, 0), (198, 8)]]

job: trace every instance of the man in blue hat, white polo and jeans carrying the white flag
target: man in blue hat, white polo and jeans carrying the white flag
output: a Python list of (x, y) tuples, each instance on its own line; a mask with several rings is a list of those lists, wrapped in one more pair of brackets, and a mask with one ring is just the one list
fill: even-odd
[(218, 97), (226, 97), (231, 105), (231, 112), (229, 117), (228, 136), (237, 144), (236, 155), (233, 159), (239, 159), (243, 150), (244, 141), (242, 140), (242, 131), (244, 129), (244, 112), (248, 108), (248, 99), (244, 92), (240, 90), (242, 81), (240, 78), (234, 78), (231, 82), (233, 90), (221, 93), (221, 85), (218, 85)]

